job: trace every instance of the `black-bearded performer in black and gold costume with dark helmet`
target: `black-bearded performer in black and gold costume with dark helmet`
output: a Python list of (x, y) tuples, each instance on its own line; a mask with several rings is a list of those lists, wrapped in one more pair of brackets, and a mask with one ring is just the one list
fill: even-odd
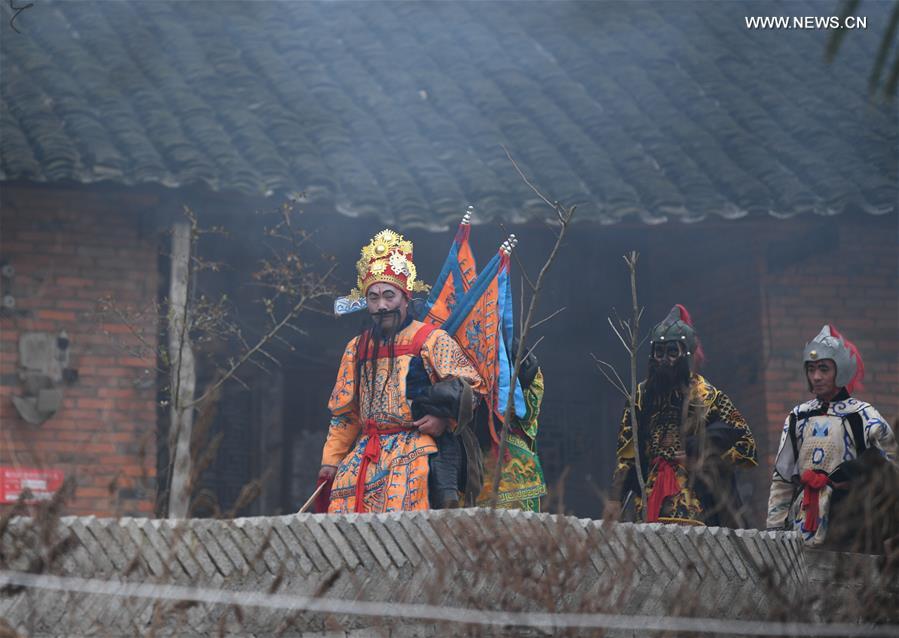
[(683, 306), (653, 328), (650, 348), (649, 374), (635, 397), (639, 450), (625, 407), (604, 518), (617, 518), (630, 494), (639, 521), (741, 526), (733, 468), (757, 464), (755, 440), (727, 395), (697, 374), (702, 348)]

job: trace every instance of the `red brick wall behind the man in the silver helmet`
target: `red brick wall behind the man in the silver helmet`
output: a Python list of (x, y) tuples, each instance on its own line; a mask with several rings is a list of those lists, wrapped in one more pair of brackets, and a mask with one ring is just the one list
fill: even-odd
[[(863, 222), (829, 222), (827, 235), (793, 233), (792, 247), (775, 250), (765, 260), (764, 374), (774, 445), (790, 408), (812, 396), (802, 372), (802, 349), (825, 323), (834, 324), (862, 354), (864, 390), (855, 395), (891, 425), (899, 418), (896, 217)], [(771, 461), (776, 449), (768, 452)]]

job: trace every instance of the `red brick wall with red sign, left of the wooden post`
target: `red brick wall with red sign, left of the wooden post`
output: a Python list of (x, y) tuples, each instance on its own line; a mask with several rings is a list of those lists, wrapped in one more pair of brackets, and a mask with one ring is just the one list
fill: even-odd
[[(4, 188), (0, 255), (15, 268), (13, 315), (0, 319), (0, 465), (59, 469), (76, 481), (71, 514), (152, 512), (156, 473), (155, 357), (136, 352), (124, 323), (102, 322), (98, 300), (152, 308), (157, 240), (141, 217), (152, 198), (31, 186)], [(147, 228), (150, 228), (147, 225)], [(155, 312), (134, 323), (157, 343)], [(71, 341), (77, 381), (41, 425), (19, 416), (18, 339), (27, 331)]]

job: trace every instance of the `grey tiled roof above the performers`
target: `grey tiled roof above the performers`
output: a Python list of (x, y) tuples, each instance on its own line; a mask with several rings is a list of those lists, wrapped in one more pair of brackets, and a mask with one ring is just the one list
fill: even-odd
[[(750, 9), (751, 7), (751, 9)], [(823, 11), (827, 8), (828, 11)], [(50, 2), (2, 8), (0, 179), (303, 191), (445, 227), (893, 211), (889, 3), (832, 66), (822, 3)]]

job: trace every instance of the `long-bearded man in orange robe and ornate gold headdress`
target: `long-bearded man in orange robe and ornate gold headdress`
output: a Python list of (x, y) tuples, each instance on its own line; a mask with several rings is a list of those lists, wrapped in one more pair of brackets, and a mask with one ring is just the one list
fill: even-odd
[[(329, 512), (428, 509), (428, 455), (434, 437), (465, 427), (458, 419), (413, 420), (411, 399), (421, 386), (449, 380), (464, 406), (484, 383), (446, 332), (412, 319), (417, 281), (412, 243), (384, 230), (362, 249), (357, 288), (370, 325), (343, 354), (328, 408), (331, 424), (320, 480), (333, 479)], [(466, 398), (467, 397), (467, 398)], [(459, 414), (470, 413), (471, 406)]]

